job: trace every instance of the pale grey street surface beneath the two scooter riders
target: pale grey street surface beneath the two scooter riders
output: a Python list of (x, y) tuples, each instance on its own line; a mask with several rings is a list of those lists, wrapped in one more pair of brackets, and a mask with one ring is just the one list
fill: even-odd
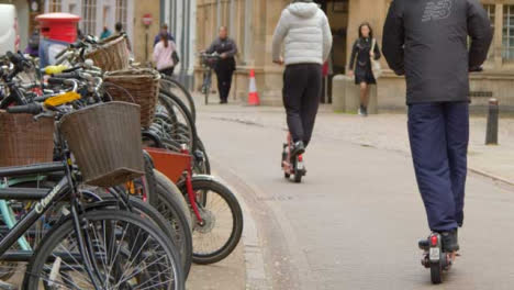
[(471, 119), (462, 256), (435, 287), (420, 265), (428, 230), (404, 114), (322, 108), (302, 185), (279, 168), (282, 109), (200, 107), (197, 123), (216, 175), (244, 203), (244, 258), (227, 267), (246, 268), (246, 289), (512, 289), (514, 120), (501, 120), (499, 146), (484, 146), (485, 120)]

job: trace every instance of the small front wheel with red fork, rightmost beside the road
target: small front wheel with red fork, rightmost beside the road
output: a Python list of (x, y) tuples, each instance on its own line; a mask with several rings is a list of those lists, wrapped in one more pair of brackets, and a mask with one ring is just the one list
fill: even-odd
[[(192, 188), (203, 220), (203, 223), (194, 223), (193, 263), (217, 263), (231, 255), (239, 243), (243, 211), (234, 193), (216, 180), (193, 177)], [(181, 190), (187, 192), (183, 186)]]

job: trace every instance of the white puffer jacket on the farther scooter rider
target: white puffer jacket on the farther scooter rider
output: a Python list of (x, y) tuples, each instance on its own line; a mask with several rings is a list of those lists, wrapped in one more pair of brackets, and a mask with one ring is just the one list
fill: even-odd
[(287, 7), (273, 34), (273, 62), (280, 59), (282, 43), (286, 65), (323, 65), (332, 49), (332, 32), (325, 13), (315, 3)]

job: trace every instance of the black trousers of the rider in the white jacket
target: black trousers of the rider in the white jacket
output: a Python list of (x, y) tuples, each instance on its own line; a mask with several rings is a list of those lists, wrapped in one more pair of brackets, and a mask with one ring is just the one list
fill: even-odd
[(283, 105), (294, 142), (306, 146), (312, 137), (322, 90), (322, 66), (289, 65), (283, 72)]

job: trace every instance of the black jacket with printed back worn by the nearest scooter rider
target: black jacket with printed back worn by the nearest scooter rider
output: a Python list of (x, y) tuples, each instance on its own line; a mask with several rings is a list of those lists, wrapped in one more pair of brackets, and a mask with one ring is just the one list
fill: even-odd
[(382, 41), (389, 67), (405, 75), (407, 103), (467, 101), (492, 29), (478, 0), (394, 0)]

